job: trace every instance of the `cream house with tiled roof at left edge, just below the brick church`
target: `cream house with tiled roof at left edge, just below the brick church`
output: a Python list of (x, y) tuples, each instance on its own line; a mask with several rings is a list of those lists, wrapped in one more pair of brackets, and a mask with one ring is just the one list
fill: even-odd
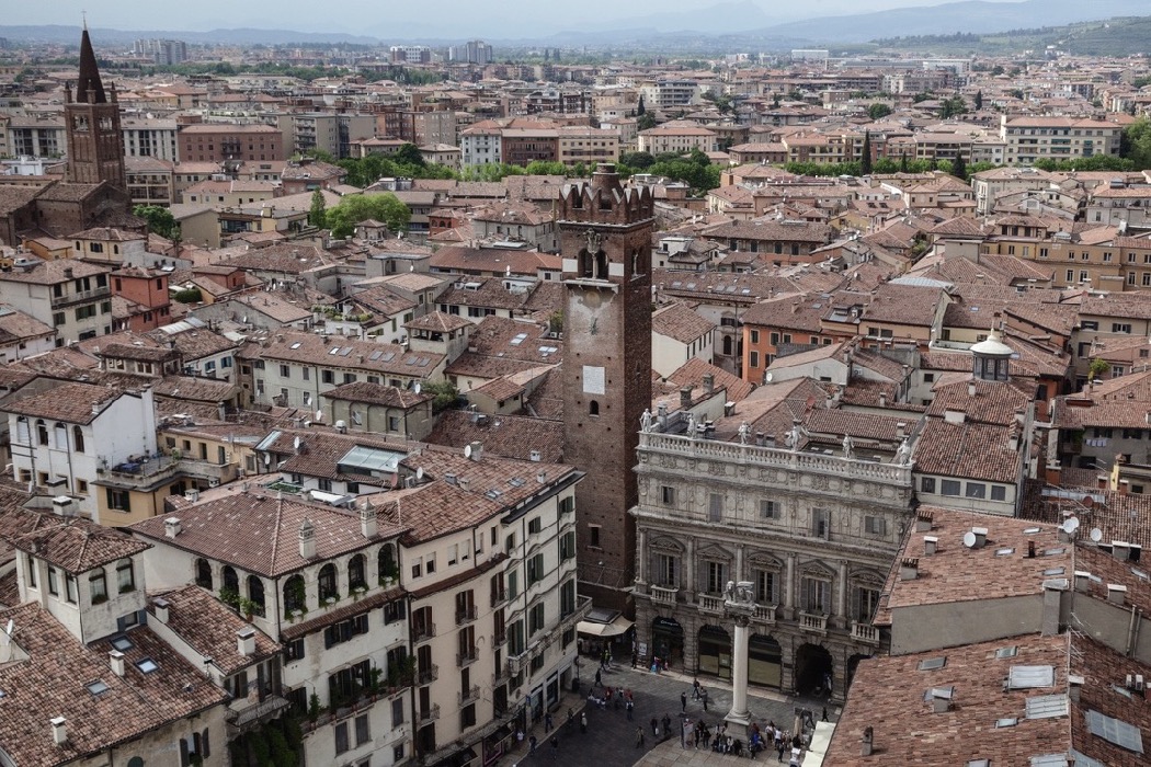
[(56, 346), (112, 332), (112, 289), (104, 267), (62, 259), (0, 273), (5, 302), (56, 329)]

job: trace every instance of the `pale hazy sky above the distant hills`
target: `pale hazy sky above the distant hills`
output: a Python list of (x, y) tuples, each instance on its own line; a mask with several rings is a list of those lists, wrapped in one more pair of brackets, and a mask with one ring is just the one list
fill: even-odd
[[(991, 0), (1004, 2), (1009, 0)], [(388, 37), (389, 29), (419, 30), (424, 36), (456, 37), (474, 29), (488, 37), (543, 36), (565, 29), (594, 30), (604, 24), (662, 14), (699, 11), (712, 5), (759, 8), (779, 23), (907, 6), (940, 0), (40, 0), (8, 3), (0, 24), (78, 24), (87, 10), (92, 28), (122, 30), (190, 30), (253, 26)], [(441, 34), (436, 31), (441, 30)]]

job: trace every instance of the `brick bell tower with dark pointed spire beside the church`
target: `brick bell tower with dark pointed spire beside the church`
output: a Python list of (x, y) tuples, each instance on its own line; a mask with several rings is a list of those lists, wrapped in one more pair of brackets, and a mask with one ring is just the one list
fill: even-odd
[(64, 125), (68, 136), (68, 181), (74, 184), (108, 182), (127, 190), (124, 141), (120, 132), (116, 89), (104, 90), (87, 28), (79, 39), (79, 80), (76, 98), (64, 87)]

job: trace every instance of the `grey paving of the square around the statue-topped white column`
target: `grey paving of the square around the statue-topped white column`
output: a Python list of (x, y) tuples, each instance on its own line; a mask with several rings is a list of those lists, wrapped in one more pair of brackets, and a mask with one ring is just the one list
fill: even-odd
[[(700, 677), (700, 684), (708, 691), (708, 711), (703, 711), (703, 705), (699, 700), (692, 700), (692, 678), (687, 675), (665, 672), (663, 674), (651, 674), (650, 672), (632, 669), (627, 666), (615, 666), (610, 672), (601, 674), (603, 684), (612, 689), (631, 689), (635, 698), (635, 710), (633, 721), (627, 721), (624, 706), (615, 708), (609, 704), (607, 710), (590, 705), (587, 701), (588, 683), (594, 682), (595, 662), (581, 658), (584, 672), (584, 684), (581, 695), (565, 692), (559, 706), (552, 713), (557, 726), (555, 733), (559, 741), (558, 749), (550, 744), (552, 734), (544, 734), (543, 723), (536, 724), (526, 734), (524, 745), (508, 757), (502, 764), (516, 765), (517, 767), (539, 767), (541, 765), (563, 765), (567, 767), (631, 767), (640, 759), (646, 765), (718, 765), (734, 762), (735, 757), (724, 757), (711, 754), (710, 752), (696, 751), (694, 747), (681, 750), (679, 744), (678, 720), (680, 716), (680, 693), (687, 693), (687, 710), (683, 714), (692, 720), (694, 724), (702, 716), (708, 726), (714, 727), (723, 721), (723, 718), (731, 708), (731, 685), (714, 677)], [(599, 692), (599, 688), (596, 692)], [(803, 706), (811, 711), (818, 721), (823, 715), (823, 707), (826, 700), (795, 699), (782, 696), (769, 690), (748, 689), (748, 708), (755, 721), (775, 721), (785, 729), (792, 729), (794, 723), (794, 710)], [(573, 721), (566, 724), (567, 711), (572, 710)], [(587, 715), (587, 733), (580, 731), (580, 716)], [(660, 735), (651, 735), (651, 718), (662, 722), (664, 715), (671, 721), (672, 737), (664, 734), (662, 723), (658, 723)], [(828, 705), (828, 718), (834, 721), (839, 714), (838, 706)], [(637, 728), (643, 728), (643, 743), (637, 746)], [(529, 752), (529, 741), (527, 736), (534, 735), (538, 739), (535, 752)], [(664, 744), (662, 747), (661, 744)], [(653, 751), (654, 750), (654, 751)], [(649, 754), (649, 752), (651, 752)], [(712, 757), (706, 759), (704, 757)], [(761, 756), (761, 760), (776, 764), (776, 754), (769, 754), (770, 759)]]

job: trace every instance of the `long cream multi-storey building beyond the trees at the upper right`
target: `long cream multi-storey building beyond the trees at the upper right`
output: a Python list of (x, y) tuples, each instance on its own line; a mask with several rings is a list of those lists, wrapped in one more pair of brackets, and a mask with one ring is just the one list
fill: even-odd
[(1074, 160), (1118, 155), (1123, 125), (1103, 120), (1003, 115), (999, 138), (1007, 146), (1008, 166), (1029, 166), (1036, 160)]

